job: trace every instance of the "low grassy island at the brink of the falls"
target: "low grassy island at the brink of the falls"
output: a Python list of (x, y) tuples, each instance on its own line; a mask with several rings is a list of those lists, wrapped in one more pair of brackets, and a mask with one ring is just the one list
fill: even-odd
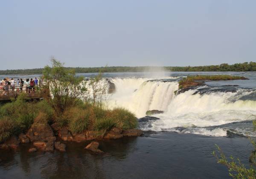
[(186, 89), (188, 87), (202, 84), (203, 81), (220, 81), (220, 80), (247, 80), (243, 76), (231, 75), (195, 75), (187, 76), (179, 81), (179, 89)]

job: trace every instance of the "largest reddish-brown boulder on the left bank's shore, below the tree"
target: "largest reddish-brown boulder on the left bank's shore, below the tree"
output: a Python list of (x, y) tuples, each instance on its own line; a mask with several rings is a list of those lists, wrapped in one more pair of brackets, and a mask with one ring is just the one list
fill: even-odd
[(53, 137), (54, 133), (49, 124), (33, 124), (27, 133), (27, 137), (30, 141), (45, 141)]

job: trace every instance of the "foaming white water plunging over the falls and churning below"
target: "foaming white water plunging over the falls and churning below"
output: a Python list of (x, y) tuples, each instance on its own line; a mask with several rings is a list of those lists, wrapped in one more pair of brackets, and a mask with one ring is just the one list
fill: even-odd
[(256, 114), (256, 101), (237, 100), (248, 94), (246, 90), (204, 95), (192, 95), (196, 90), (189, 90), (175, 95), (178, 89), (176, 81), (148, 81), (151, 78), (111, 80), (116, 86), (116, 93), (111, 96), (109, 107), (123, 106), (138, 118), (144, 117), (147, 110), (165, 111), (154, 115), (160, 119), (154, 121), (150, 129), (144, 130), (175, 131), (174, 127), (193, 127), (185, 133), (225, 136), (224, 129), (209, 130), (204, 127), (250, 120), (250, 116)]

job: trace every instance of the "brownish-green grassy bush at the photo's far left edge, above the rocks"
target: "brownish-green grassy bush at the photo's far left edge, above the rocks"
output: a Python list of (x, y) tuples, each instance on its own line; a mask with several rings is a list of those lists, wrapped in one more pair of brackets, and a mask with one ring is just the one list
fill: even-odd
[(0, 143), (17, 133), (17, 123), (14, 120), (8, 117), (0, 120)]

